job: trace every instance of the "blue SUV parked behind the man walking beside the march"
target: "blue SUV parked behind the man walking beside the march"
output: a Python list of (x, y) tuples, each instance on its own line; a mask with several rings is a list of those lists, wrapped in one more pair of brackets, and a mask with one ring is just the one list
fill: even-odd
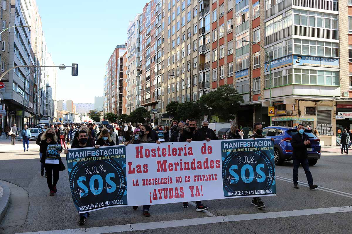
[[(291, 146), (292, 136), (297, 134), (295, 127), (278, 127), (270, 126), (263, 129), (263, 135), (274, 138), (274, 156), (275, 165), (282, 165), (284, 161), (292, 160), (293, 148)], [(304, 133), (309, 137), (312, 148), (307, 148), (308, 162), (310, 166), (316, 164), (320, 159), (320, 139), (317, 138), (313, 131), (305, 129)]]

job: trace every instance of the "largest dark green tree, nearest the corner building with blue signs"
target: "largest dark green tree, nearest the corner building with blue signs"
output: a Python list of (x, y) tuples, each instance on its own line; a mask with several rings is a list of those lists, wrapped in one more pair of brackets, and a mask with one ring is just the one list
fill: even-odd
[(216, 115), (229, 120), (237, 113), (243, 96), (230, 85), (222, 85), (215, 91), (202, 95), (197, 102), (200, 105), (201, 114)]

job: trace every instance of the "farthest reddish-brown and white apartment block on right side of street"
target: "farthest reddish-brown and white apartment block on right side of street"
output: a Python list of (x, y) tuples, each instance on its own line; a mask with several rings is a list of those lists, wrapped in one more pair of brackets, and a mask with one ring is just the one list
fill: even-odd
[(117, 45), (105, 67), (104, 76), (104, 107), (105, 113), (122, 114), (122, 73), (123, 55), (126, 45)]

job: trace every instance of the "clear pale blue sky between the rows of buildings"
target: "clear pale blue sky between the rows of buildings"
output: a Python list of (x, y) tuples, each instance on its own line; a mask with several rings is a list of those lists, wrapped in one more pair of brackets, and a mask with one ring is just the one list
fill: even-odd
[(116, 45), (125, 44), (129, 21), (149, 1), (36, 1), (54, 63), (78, 63), (78, 76), (71, 76), (70, 68), (57, 71), (57, 100), (94, 103), (94, 96), (103, 95), (109, 56)]

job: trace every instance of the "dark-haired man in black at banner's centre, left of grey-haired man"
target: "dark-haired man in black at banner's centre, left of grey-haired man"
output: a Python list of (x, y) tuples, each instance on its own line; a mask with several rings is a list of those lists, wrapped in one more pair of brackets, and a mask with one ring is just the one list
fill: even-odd
[[(179, 123), (180, 124), (180, 123)], [(189, 120), (189, 131), (183, 130), (182, 135), (180, 136), (179, 142), (187, 141), (191, 143), (192, 141), (210, 141), (209, 138), (205, 138), (205, 136), (201, 135), (199, 131), (197, 131), (197, 121), (195, 119)], [(183, 208), (188, 207), (188, 202), (183, 202)], [(209, 207), (202, 204), (202, 201), (196, 201), (196, 211), (207, 210)]]

